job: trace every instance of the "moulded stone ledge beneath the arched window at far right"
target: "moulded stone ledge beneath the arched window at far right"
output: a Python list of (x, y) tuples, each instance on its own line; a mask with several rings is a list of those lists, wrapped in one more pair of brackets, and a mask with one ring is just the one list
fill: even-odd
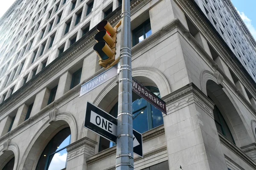
[[(250, 159), (249, 156), (247, 156), (239, 147), (237, 147), (235, 144), (231, 143), (225, 136), (223, 136), (221, 133), (218, 133), (221, 144), (226, 146), (229, 150), (231, 150), (233, 153), (235, 153), (239, 158), (241, 158), (244, 162), (246, 162), (248, 165), (250, 165), (254, 170), (256, 170), (256, 163)], [(227, 157), (224, 155), (225, 158)], [(232, 159), (230, 159), (232, 160)], [(239, 166), (240, 167), (240, 166)]]

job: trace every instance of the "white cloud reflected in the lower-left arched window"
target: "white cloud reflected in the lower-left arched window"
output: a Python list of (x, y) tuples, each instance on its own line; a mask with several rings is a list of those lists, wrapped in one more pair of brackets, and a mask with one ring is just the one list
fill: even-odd
[(66, 166), (67, 153), (55, 153), (48, 170), (61, 170)]

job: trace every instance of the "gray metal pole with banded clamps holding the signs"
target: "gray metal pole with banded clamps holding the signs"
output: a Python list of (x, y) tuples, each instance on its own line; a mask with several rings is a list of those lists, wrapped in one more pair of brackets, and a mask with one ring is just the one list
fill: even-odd
[(122, 0), (116, 170), (133, 170), (130, 0)]

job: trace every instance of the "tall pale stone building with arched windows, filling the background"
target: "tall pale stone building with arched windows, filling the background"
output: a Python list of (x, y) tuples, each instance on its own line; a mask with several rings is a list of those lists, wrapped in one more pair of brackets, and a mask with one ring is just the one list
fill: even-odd
[[(121, 0), (16, 0), (0, 18), (0, 169), (114, 170), (116, 146), (84, 128), (86, 103), (117, 116), (96, 25)], [(120, 28), (117, 54), (120, 49)], [(136, 170), (256, 169), (256, 41), (230, 0), (131, 0), (132, 76), (167, 114), (132, 95), (143, 134)]]

